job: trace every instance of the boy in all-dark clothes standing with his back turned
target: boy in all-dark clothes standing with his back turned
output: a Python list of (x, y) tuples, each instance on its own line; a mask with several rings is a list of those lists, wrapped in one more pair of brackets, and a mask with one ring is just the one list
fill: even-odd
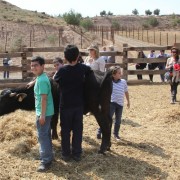
[[(79, 49), (68, 45), (64, 50), (68, 64), (58, 70), (54, 79), (60, 86), (60, 125), (62, 158), (81, 160), (83, 133), (83, 84), (90, 67), (78, 63)], [(72, 149), (70, 134), (72, 131)]]

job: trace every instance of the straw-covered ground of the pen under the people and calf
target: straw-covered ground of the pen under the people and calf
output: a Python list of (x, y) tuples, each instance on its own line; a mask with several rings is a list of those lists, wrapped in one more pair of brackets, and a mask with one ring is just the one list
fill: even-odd
[[(178, 91), (180, 87), (178, 87)], [(98, 154), (98, 125), (84, 116), (83, 158), (65, 163), (60, 139), (53, 140), (55, 162), (47, 173), (39, 165), (35, 113), (17, 110), (0, 117), (0, 179), (180, 179), (180, 94), (171, 105), (168, 84), (129, 85), (130, 109), (123, 112), (121, 141)], [(59, 128), (59, 126), (58, 126)]]

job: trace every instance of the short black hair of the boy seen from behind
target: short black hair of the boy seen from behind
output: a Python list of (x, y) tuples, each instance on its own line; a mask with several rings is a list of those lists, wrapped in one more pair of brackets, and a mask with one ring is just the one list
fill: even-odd
[(79, 56), (79, 49), (75, 45), (67, 45), (64, 49), (64, 57), (68, 62), (76, 61)]

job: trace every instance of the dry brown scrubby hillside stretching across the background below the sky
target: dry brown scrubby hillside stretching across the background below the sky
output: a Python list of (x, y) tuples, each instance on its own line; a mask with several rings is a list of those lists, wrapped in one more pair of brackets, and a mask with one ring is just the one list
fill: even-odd
[[(157, 26), (149, 25), (149, 19), (156, 18)], [(169, 16), (96, 16), (92, 18), (94, 26), (112, 26), (118, 23), (120, 27), (138, 27), (151, 30), (175, 31), (180, 27), (179, 15)], [(62, 33), (59, 33), (62, 29)], [(90, 43), (101, 44), (101, 37), (85, 32), (81, 39), (80, 29), (68, 26), (62, 18), (53, 17), (45, 12), (21, 9), (6, 1), (0, 0), (0, 52), (17, 51), (22, 46), (46, 47), (65, 46), (73, 43), (87, 48)], [(112, 42), (104, 39), (104, 45)]]

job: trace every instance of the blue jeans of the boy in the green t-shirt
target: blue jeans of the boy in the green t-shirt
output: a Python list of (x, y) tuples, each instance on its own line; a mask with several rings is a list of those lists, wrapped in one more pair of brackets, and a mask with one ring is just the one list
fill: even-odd
[(50, 163), (53, 160), (52, 139), (51, 139), (51, 118), (52, 116), (46, 116), (45, 124), (40, 125), (39, 116), (36, 116), (39, 153), (42, 164)]

